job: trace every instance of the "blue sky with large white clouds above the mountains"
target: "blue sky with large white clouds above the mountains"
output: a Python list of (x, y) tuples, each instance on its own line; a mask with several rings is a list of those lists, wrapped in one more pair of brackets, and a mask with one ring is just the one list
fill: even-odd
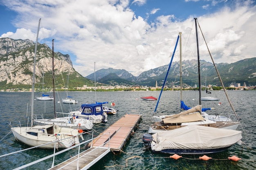
[[(169, 64), (179, 32), (182, 60), (197, 59), (194, 18), (215, 63), (256, 57), (255, 0), (0, 0), (0, 38), (36, 42), (40, 18), (38, 42), (52, 48), (54, 39), (83, 76), (94, 62), (134, 76)], [(212, 62), (200, 35), (199, 49)]]

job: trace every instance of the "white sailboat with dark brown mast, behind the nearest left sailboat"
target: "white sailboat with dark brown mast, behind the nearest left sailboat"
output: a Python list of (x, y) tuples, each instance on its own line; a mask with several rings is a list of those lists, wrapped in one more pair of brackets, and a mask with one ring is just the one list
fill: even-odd
[[(53, 42), (52, 42), (53, 46)], [(53, 51), (53, 47), (52, 47)], [(52, 61), (54, 61), (54, 55), (52, 55)], [(52, 62), (52, 70), (54, 71), (54, 64)], [(54, 83), (54, 80), (53, 80)], [(54, 102), (55, 104), (55, 102)], [(54, 107), (55, 108), (55, 107)], [(55, 111), (54, 111), (55, 113)], [(42, 116), (43, 118), (43, 116)], [(56, 117), (54, 116), (54, 119), (34, 119), (34, 123), (38, 125), (49, 125), (49, 124), (54, 124), (58, 125), (61, 128), (73, 128), (73, 129), (78, 129), (78, 130), (91, 130), (93, 127), (92, 121), (89, 119), (79, 119), (76, 118), (75, 116), (68, 115), (64, 117)]]

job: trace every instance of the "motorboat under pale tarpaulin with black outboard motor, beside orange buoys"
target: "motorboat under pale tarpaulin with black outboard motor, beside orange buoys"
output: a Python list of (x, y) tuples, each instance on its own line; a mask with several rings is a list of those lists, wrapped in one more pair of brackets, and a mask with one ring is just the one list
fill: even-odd
[(240, 139), (241, 131), (198, 125), (143, 136), (145, 146), (153, 151), (191, 155), (222, 152)]

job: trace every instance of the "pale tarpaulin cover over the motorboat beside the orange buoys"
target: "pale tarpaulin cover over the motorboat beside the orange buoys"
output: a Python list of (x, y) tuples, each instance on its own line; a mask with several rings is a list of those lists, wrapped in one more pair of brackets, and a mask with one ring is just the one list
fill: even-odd
[(212, 128), (208, 126), (185, 126), (152, 135), (156, 142), (151, 148), (164, 149), (216, 149), (231, 146), (242, 139), (238, 130)]

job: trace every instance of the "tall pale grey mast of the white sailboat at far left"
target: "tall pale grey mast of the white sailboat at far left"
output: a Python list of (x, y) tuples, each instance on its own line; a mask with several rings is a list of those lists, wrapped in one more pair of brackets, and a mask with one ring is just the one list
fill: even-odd
[(35, 46), (35, 57), (34, 57), (34, 69), (33, 69), (33, 79), (32, 79), (32, 93), (31, 93), (31, 127), (33, 126), (33, 115), (34, 115), (34, 89), (35, 89), (35, 72), (36, 72), (36, 51), (37, 51), (37, 41), (38, 41), (38, 33), (40, 28), (40, 21), (38, 22), (37, 35), (36, 35), (36, 46)]

